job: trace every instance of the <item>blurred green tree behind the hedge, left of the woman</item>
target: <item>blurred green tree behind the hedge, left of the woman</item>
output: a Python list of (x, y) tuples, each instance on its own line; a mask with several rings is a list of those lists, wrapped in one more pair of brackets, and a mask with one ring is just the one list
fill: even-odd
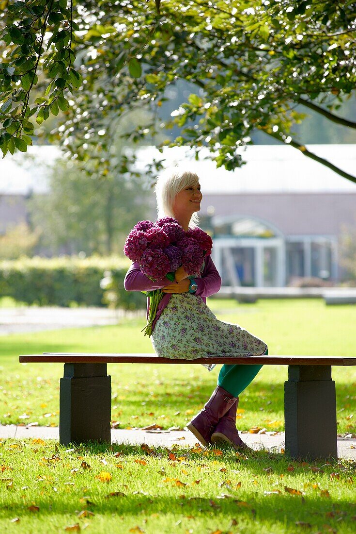
[[(117, 118), (120, 132), (130, 132), (149, 120), (136, 109)], [(102, 135), (102, 132), (98, 132)], [(131, 151), (132, 152), (132, 151)], [(52, 169), (46, 195), (33, 195), (28, 201), (31, 224), (41, 229), (39, 245), (52, 254), (122, 254), (124, 239), (139, 219), (151, 217), (148, 203), (151, 182), (131, 164), (131, 152), (116, 135), (107, 150), (96, 147), (86, 161), (59, 159)]]

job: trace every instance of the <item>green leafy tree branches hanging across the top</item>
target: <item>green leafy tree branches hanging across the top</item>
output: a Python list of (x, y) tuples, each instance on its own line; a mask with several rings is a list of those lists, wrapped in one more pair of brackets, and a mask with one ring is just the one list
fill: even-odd
[[(0, 3), (4, 154), (26, 150), (34, 119), (40, 124), (61, 112), (63, 128), (52, 138), (78, 159), (91, 157), (94, 147), (99, 164), (117, 116), (135, 106), (157, 109), (169, 85), (184, 79), (197, 91), (172, 110), (181, 128), (175, 145), (197, 152), (208, 146), (218, 166), (234, 169), (242, 163), (239, 147), (258, 128), (356, 182), (293, 138), (305, 116), (295, 109), (300, 105), (356, 127), (338, 116), (355, 88), (353, 1)], [(152, 120), (130, 138), (157, 131)]]

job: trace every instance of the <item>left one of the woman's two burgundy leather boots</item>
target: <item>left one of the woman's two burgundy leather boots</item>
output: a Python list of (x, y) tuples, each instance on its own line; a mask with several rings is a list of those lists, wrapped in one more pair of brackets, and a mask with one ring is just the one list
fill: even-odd
[(201, 444), (208, 447), (212, 443), (211, 436), (219, 419), (229, 411), (235, 402), (236, 397), (233, 397), (231, 393), (217, 386), (203, 410), (188, 423), (187, 428)]

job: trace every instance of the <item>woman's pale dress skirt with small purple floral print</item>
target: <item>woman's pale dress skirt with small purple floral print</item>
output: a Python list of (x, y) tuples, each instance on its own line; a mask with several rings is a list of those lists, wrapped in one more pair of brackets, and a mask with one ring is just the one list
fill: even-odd
[[(239, 325), (217, 319), (203, 299), (191, 293), (172, 294), (151, 340), (158, 356), (172, 359), (261, 356), (267, 349), (262, 340)], [(215, 367), (203, 365), (209, 371)]]

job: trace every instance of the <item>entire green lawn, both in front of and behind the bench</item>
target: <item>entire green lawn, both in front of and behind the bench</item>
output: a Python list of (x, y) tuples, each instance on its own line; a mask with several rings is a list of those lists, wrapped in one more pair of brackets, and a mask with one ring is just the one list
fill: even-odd
[[(270, 354), (355, 356), (356, 307), (321, 300), (211, 300)], [(61, 364), (18, 363), (43, 351), (151, 352), (143, 319), (117, 326), (0, 337), (0, 421), (58, 425)], [(182, 428), (215, 387), (217, 369), (110, 365), (112, 420), (119, 427)], [(356, 370), (334, 368), (339, 433), (355, 433)], [(241, 395), (239, 428), (283, 429), (287, 368), (263, 367)], [(355, 414), (356, 417), (356, 414)], [(289, 462), (283, 454), (182, 445), (86, 445), (0, 440), (0, 526), (13, 532), (182, 534), (354, 533), (356, 463)]]

